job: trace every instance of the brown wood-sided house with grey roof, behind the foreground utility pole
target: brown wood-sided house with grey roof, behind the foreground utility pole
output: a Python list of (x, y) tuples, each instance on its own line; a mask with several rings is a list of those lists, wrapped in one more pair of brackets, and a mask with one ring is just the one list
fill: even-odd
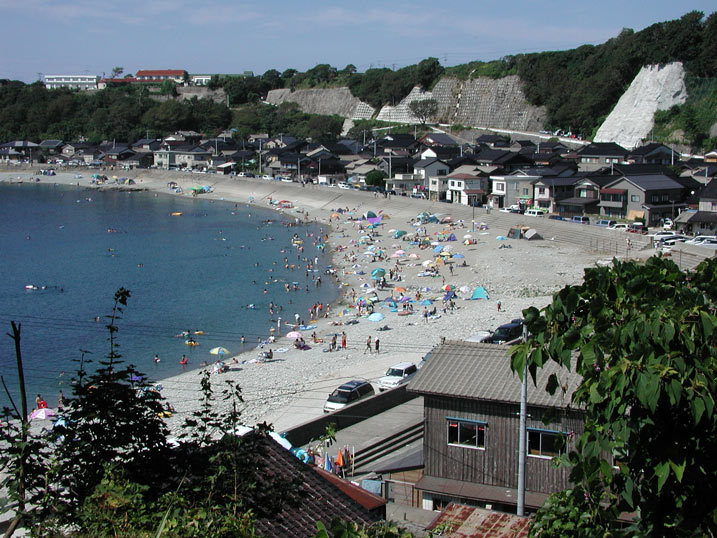
[[(510, 369), (509, 353), (506, 345), (446, 341), (409, 382), (408, 391), (424, 399), (424, 474), (415, 485), (424, 509), (469, 502), (515, 511), (521, 382)], [(558, 375), (564, 393), (545, 391), (551, 374)], [(570, 403), (580, 380), (549, 362), (538, 370), (537, 386), (528, 381), (528, 511), (569, 487), (569, 469), (552, 460), (583, 432), (584, 412)], [(551, 410), (557, 410), (552, 420)]]

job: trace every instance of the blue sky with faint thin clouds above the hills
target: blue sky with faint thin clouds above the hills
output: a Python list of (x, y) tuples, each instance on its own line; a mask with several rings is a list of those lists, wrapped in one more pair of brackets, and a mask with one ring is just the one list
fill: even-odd
[(138, 69), (256, 74), (443, 65), (602, 43), (714, 0), (0, 0), (0, 78)]

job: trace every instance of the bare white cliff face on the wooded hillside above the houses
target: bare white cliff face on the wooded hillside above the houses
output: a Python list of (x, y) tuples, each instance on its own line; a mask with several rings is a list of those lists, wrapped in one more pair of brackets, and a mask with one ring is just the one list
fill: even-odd
[(649, 137), (658, 110), (687, 100), (681, 62), (644, 66), (598, 129), (595, 142), (616, 142), (633, 149)]

